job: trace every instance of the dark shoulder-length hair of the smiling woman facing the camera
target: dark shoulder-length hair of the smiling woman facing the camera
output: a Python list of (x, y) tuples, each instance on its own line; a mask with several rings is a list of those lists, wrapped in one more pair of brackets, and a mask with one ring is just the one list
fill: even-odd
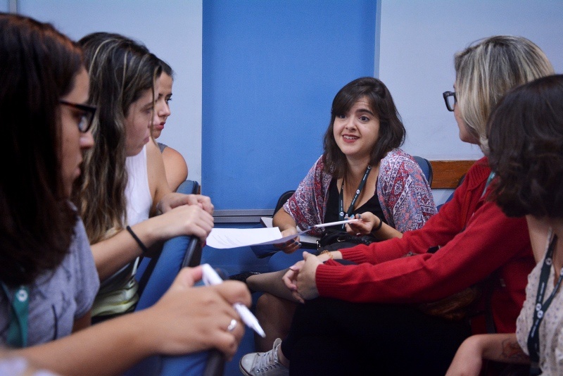
[(374, 77), (360, 77), (340, 89), (332, 101), (330, 124), (323, 142), (326, 173), (336, 177), (343, 177), (346, 173), (346, 156), (334, 139), (334, 119), (338, 115), (346, 115), (362, 98), (367, 99), (369, 108), (379, 119), (379, 135), (370, 163), (377, 165), (386, 153), (405, 142), (405, 126), (385, 84)]

